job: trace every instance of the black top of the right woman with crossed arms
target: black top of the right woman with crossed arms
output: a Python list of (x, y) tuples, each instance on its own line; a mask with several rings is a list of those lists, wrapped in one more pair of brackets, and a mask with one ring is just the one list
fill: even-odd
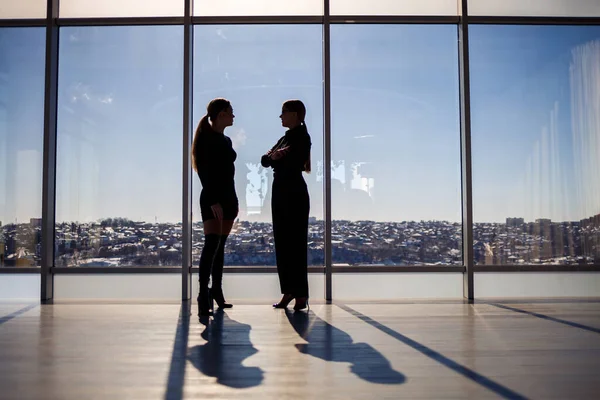
[(306, 125), (302, 124), (288, 130), (285, 135), (277, 141), (271, 151), (289, 146), (290, 150), (279, 160), (272, 160), (268, 155), (262, 156), (260, 163), (263, 167), (273, 167), (277, 175), (298, 175), (304, 171), (304, 164), (310, 155), (310, 135)]

